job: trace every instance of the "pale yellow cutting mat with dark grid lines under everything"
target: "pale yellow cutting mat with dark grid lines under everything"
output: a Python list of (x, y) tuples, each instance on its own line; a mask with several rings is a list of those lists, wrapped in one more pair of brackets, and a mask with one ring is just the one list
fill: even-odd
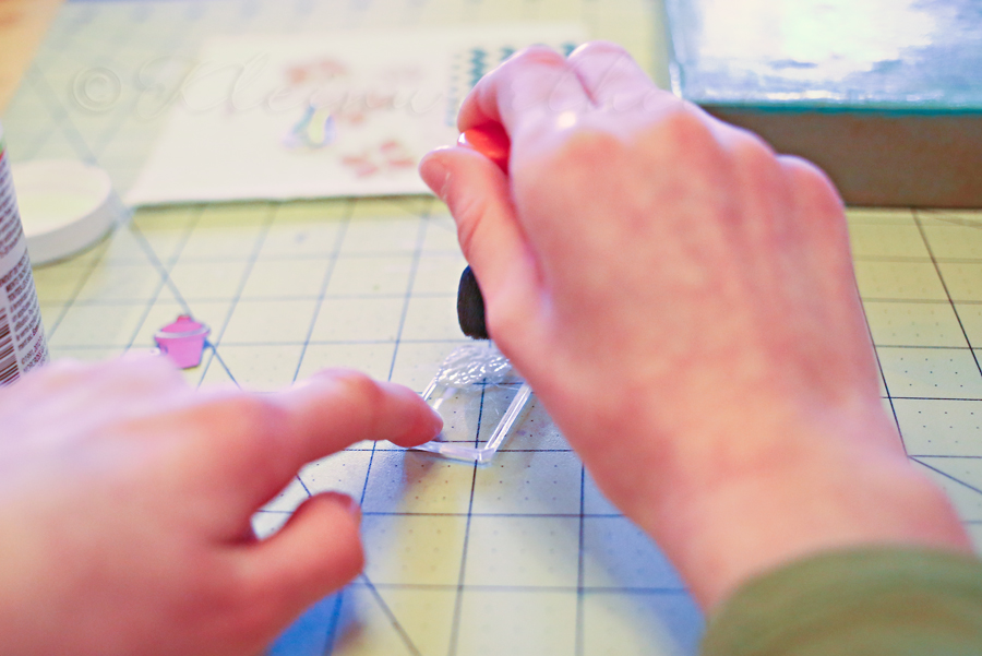
[[(658, 15), (640, 0), (70, 2), (2, 120), (15, 159), (95, 160), (124, 193), (173, 91), (147, 87), (140, 71), (193, 57), (208, 36), (499, 20), (579, 22), (652, 69), (660, 51)], [(972, 348), (982, 344), (982, 216), (862, 211), (850, 224), (884, 403), (915, 466), (982, 538)], [(155, 331), (190, 311), (212, 326), (202, 366), (187, 372), (193, 384), (267, 390), (354, 366), (422, 391), (464, 342), (463, 266), (445, 207), (394, 198), (141, 210), (94, 250), (35, 274), (55, 357), (149, 348)], [(478, 424), (475, 438), (488, 429)], [(486, 467), (385, 444), (314, 463), (258, 514), (258, 530), (326, 489), (361, 500), (368, 566), (273, 654), (697, 648), (703, 619), (684, 585), (539, 407)]]

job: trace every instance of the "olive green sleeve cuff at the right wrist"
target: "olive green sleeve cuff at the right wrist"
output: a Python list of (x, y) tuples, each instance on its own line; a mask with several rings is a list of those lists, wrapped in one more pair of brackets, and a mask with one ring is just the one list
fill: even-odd
[(982, 562), (869, 549), (792, 563), (741, 586), (703, 656), (980, 656)]

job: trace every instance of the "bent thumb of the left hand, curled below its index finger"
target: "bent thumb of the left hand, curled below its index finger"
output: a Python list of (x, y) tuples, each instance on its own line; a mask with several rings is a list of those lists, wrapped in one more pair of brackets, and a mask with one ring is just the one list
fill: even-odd
[(361, 572), (361, 511), (347, 494), (328, 492), (304, 501), (274, 536), (247, 556), (251, 598), (276, 629)]

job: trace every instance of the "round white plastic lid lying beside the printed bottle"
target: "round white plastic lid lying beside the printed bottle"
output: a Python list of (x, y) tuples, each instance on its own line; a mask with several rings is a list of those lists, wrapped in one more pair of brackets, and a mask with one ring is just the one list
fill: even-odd
[(73, 159), (11, 166), (32, 264), (60, 260), (97, 242), (120, 206), (109, 174)]

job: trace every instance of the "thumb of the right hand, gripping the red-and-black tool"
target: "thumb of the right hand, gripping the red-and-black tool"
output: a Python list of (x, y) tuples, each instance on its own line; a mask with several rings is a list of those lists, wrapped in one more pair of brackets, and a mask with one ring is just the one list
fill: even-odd
[(528, 330), (529, 319), (538, 315), (539, 297), (535, 253), (512, 203), (508, 178), (466, 147), (433, 151), (419, 171), (450, 207), (464, 257), (484, 297), (488, 330), (503, 346), (510, 336), (498, 335), (495, 326)]

